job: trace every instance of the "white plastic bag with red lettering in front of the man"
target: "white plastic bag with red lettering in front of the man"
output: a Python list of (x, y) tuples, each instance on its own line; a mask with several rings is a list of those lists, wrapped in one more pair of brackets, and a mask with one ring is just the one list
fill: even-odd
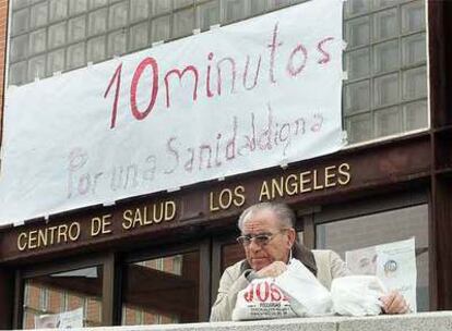
[(330, 292), (299, 260), (276, 278), (254, 279), (237, 295), (233, 320), (329, 315)]

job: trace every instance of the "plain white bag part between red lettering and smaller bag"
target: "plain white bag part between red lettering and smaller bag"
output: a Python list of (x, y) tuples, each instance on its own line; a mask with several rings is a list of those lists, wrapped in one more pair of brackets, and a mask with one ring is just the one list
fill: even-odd
[(299, 260), (292, 259), (287, 271), (277, 277), (275, 283), (288, 296), (297, 316), (332, 314), (333, 302), (330, 292)]

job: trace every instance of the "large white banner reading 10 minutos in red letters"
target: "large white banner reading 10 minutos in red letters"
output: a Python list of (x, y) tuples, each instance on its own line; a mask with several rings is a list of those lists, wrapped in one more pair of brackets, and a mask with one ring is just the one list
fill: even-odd
[(0, 222), (343, 146), (342, 0), (313, 0), (7, 96)]

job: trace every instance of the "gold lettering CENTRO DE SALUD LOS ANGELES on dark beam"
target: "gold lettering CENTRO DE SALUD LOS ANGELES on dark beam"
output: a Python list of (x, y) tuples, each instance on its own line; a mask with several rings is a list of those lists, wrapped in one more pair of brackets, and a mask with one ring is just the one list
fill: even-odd
[[(195, 210), (197, 214), (207, 211), (207, 219), (217, 214), (236, 211), (245, 205), (271, 201), (294, 195), (311, 194), (333, 187), (346, 186), (352, 181), (349, 163), (328, 166), (302, 172), (270, 176), (257, 185), (229, 185), (227, 187), (203, 192), (204, 206)], [(58, 224), (29, 226), (17, 232), (16, 252), (34, 252), (78, 242), (87, 242), (105, 237), (122, 237), (142, 228), (182, 225), (188, 217), (181, 212), (182, 206), (190, 204), (188, 197), (169, 197), (148, 204), (135, 204), (115, 210), (91, 214), (81, 220), (64, 220)], [(209, 205), (209, 206), (207, 206)], [(234, 210), (233, 210), (234, 209)]]

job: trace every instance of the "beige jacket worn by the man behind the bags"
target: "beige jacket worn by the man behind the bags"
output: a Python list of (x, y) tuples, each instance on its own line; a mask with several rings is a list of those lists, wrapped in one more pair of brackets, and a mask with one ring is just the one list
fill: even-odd
[[(333, 250), (312, 250), (317, 267), (317, 279), (330, 290), (334, 278), (350, 274), (345, 262)], [(218, 294), (211, 311), (211, 321), (231, 320), (237, 294), (250, 283), (245, 277), (245, 260), (225, 270), (219, 280)]]

